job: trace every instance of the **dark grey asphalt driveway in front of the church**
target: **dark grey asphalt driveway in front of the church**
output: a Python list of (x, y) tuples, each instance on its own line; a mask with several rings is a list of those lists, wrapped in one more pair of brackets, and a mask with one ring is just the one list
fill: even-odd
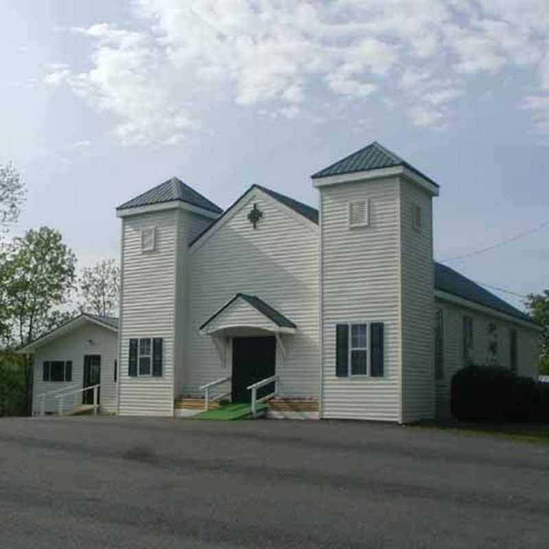
[(0, 548), (546, 548), (549, 447), (355, 422), (0, 419)]

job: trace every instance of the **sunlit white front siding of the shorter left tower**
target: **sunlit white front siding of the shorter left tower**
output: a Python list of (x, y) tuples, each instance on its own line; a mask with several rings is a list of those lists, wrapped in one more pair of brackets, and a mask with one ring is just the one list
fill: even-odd
[[(119, 414), (173, 414), (178, 209), (122, 220)], [(156, 226), (156, 250), (141, 252), (141, 229)], [(129, 377), (130, 338), (163, 338), (163, 377)]]

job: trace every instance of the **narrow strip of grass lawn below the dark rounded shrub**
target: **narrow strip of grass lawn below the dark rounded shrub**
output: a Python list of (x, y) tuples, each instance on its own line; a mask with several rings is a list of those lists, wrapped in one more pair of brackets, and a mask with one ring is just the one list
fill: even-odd
[(507, 439), (517, 442), (549, 445), (549, 425), (544, 423), (452, 423), (435, 425), (436, 429), (464, 434), (467, 436), (492, 436), (494, 439)]

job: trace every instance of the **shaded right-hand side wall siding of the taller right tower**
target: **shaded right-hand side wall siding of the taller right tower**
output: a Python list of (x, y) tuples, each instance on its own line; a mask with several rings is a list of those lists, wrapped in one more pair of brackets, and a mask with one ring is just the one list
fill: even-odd
[[(413, 226), (421, 208), (421, 230)], [(432, 200), (401, 179), (402, 420), (434, 417)]]

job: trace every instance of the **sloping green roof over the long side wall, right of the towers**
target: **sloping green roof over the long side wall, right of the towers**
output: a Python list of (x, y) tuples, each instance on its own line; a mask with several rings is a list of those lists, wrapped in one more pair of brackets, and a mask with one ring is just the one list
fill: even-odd
[(488, 290), (484, 290), (476, 282), (464, 277), (463, 274), (440, 263), (434, 264), (434, 288), (467, 299), (468, 301), (473, 301), (479, 305), (484, 305), (484, 307), (509, 314), (510, 316), (519, 318), (519, 320), (535, 324), (535, 321), (530, 316), (519, 311), (513, 305), (509, 305), (503, 299), (500, 299)]

